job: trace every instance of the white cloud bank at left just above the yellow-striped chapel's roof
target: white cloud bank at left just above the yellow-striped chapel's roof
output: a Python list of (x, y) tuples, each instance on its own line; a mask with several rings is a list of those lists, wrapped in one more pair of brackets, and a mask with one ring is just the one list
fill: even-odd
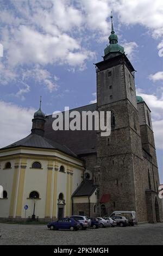
[(0, 101), (0, 147), (16, 142), (30, 133), (34, 112), (33, 108), (22, 108), (13, 103)]

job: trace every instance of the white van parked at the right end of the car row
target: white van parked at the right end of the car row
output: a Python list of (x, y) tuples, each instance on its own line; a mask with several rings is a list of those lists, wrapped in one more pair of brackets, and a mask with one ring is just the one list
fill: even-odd
[(127, 218), (128, 222), (131, 226), (137, 224), (135, 211), (114, 211), (114, 212), (112, 212), (110, 217), (111, 216), (124, 216)]

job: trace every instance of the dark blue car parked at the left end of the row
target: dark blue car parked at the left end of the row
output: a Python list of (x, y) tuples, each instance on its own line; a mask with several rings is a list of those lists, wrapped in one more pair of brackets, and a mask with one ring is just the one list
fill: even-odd
[(47, 227), (51, 230), (70, 229), (73, 231), (80, 228), (80, 223), (73, 218), (60, 218), (58, 221), (49, 222)]

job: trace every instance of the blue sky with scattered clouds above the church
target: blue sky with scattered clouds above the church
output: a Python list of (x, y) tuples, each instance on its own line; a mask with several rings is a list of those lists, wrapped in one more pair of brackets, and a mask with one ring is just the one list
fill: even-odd
[(40, 95), (46, 114), (96, 102), (93, 63), (109, 44), (111, 11), (152, 111), (163, 184), (162, 0), (0, 0), (0, 147), (29, 134)]

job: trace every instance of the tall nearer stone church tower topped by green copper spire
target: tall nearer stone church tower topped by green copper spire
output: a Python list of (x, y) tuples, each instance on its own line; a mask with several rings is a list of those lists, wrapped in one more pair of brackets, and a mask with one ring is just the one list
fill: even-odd
[(142, 212), (145, 208), (136, 190), (143, 156), (134, 71), (124, 48), (118, 44), (111, 16), (109, 45), (103, 61), (96, 64), (97, 110), (111, 111), (111, 135), (102, 137), (101, 132), (97, 133), (95, 172), (99, 173), (96, 183), (101, 216), (115, 210), (136, 211), (141, 219), (147, 215)]

